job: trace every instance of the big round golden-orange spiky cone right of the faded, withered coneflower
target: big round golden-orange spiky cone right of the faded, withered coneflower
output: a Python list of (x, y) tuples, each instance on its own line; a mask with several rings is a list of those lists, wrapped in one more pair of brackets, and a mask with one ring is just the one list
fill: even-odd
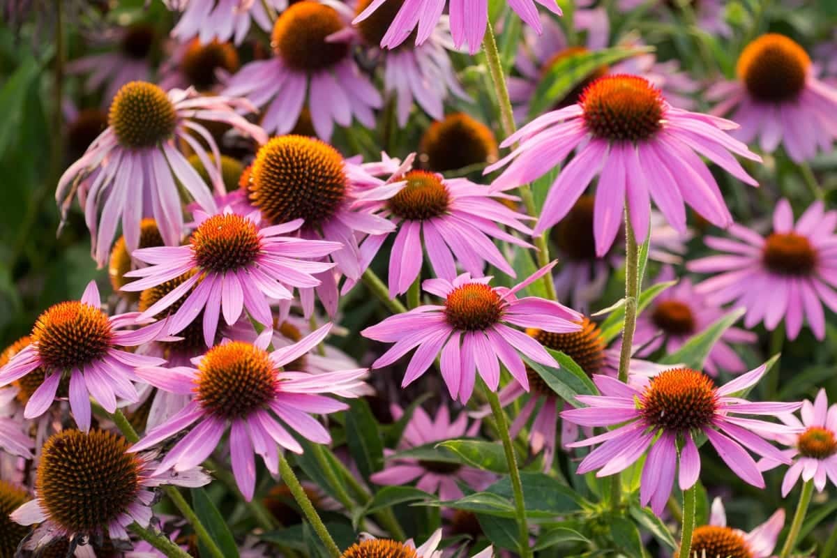
[(311, 137), (279, 136), (256, 154), (249, 198), (271, 224), (302, 218), (316, 226), (340, 207), (347, 182), (343, 157), (334, 147)]

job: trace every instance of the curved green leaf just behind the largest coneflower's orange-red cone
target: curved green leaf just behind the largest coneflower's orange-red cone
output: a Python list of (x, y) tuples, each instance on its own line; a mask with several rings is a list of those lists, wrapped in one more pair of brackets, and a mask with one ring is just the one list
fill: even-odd
[(532, 95), (529, 106), (529, 120), (550, 110), (559, 100), (562, 100), (584, 79), (602, 66), (614, 64), (619, 60), (651, 52), (650, 48), (614, 47), (592, 52), (581, 52), (558, 60), (544, 74), (537, 85), (535, 95)]

